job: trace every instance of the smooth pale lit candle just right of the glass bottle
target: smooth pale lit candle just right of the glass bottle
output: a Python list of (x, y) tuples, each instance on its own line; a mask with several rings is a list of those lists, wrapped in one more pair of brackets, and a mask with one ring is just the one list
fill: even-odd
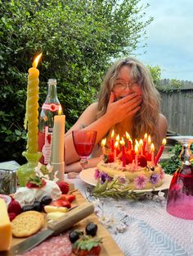
[(53, 137), (52, 137), (52, 166), (54, 171), (58, 171), (57, 178), (64, 181), (65, 172), (65, 115), (61, 115), (61, 106), (59, 115), (54, 117)]

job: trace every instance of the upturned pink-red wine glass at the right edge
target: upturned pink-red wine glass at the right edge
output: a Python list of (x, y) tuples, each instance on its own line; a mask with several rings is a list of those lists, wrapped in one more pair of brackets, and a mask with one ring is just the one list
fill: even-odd
[(193, 136), (172, 136), (167, 139), (176, 139), (182, 144), (182, 167), (173, 174), (168, 190), (167, 212), (176, 217), (193, 219), (193, 166), (191, 166), (190, 146)]

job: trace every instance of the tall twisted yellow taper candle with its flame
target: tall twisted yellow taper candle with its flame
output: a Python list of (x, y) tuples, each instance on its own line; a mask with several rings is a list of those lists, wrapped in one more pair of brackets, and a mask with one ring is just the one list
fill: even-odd
[(28, 89), (26, 102), (25, 126), (28, 122), (28, 153), (38, 152), (38, 92), (39, 92), (39, 71), (37, 69), (40, 53), (29, 68)]

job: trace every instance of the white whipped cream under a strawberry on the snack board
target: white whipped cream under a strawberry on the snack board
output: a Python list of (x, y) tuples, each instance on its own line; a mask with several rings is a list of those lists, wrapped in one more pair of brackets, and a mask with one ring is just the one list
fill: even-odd
[(13, 194), (14, 199), (20, 203), (20, 206), (31, 205), (35, 200), (40, 201), (45, 195), (49, 195), (52, 200), (61, 197), (61, 190), (54, 181), (45, 180), (46, 185), (41, 189), (29, 189), (27, 187), (20, 187)]

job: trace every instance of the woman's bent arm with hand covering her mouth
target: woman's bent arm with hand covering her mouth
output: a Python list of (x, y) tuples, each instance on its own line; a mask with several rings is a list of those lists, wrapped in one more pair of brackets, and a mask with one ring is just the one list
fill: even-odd
[(97, 119), (98, 103), (92, 103), (79, 117), (79, 120), (65, 135), (65, 164), (79, 161), (79, 155), (74, 149), (72, 130), (79, 130), (83, 127), (84, 130), (96, 130), (96, 144), (110, 130), (115, 123), (123, 121), (125, 118), (132, 116), (139, 110), (141, 96), (137, 94), (129, 94), (128, 96), (114, 102), (114, 94), (110, 94), (105, 114)]

